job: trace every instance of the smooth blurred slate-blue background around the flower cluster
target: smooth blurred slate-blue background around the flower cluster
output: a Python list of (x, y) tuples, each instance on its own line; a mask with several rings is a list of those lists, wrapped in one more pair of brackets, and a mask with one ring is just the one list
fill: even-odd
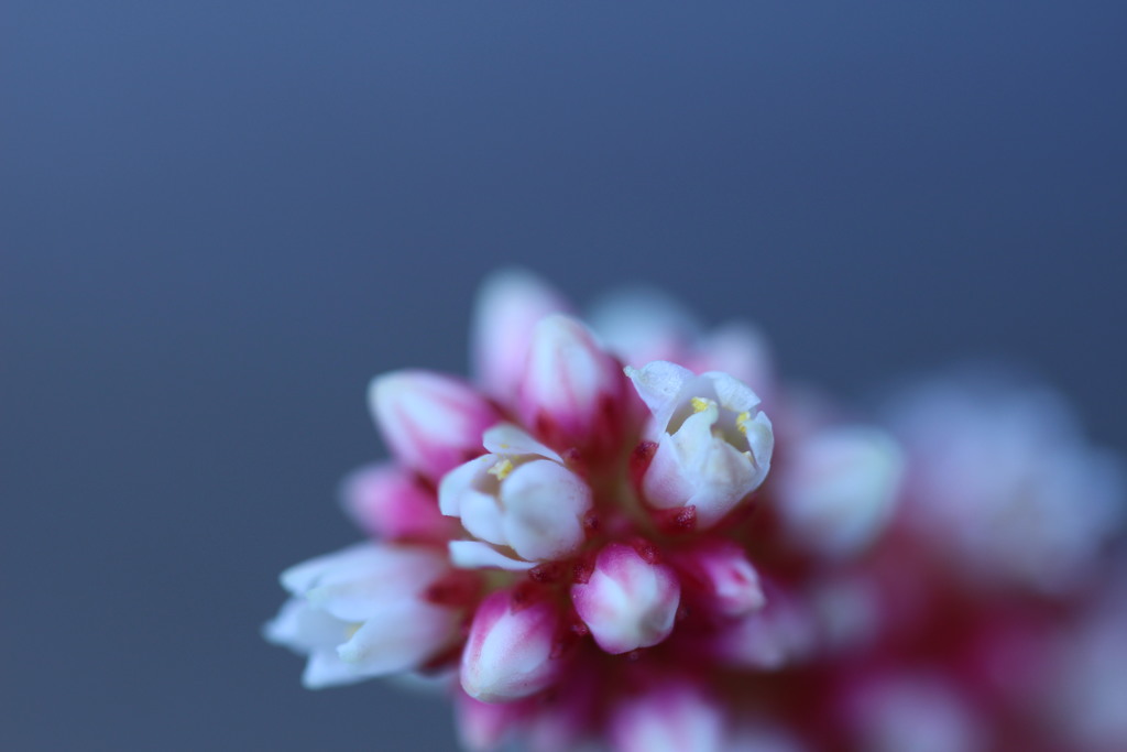
[(488, 271), (866, 398), (1013, 359), (1127, 448), (1127, 5), (0, 5), (0, 747), (446, 750), (258, 636), (369, 378)]

